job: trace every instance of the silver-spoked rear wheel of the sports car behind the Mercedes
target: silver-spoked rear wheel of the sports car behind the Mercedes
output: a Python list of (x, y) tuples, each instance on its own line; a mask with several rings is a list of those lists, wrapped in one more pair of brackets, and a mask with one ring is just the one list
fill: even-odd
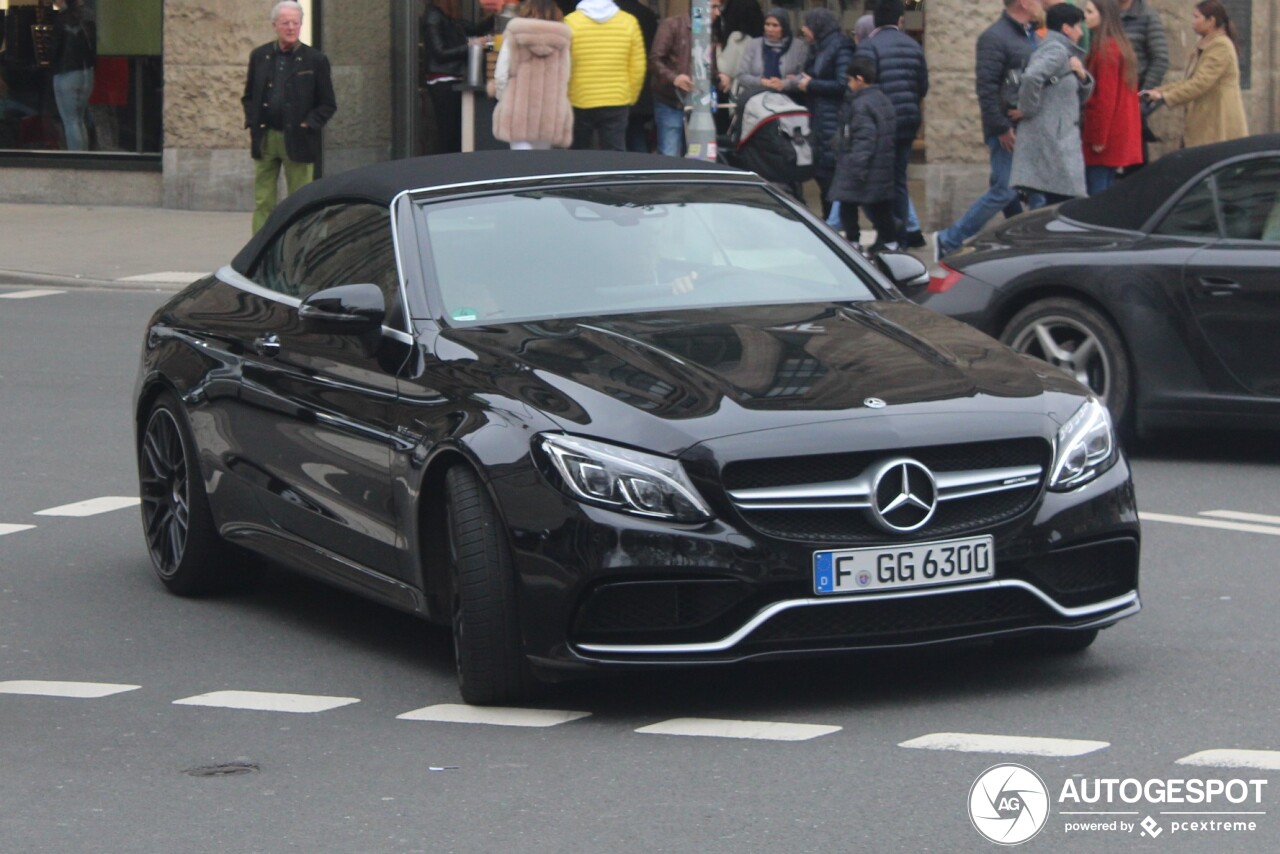
[(1088, 385), (1128, 431), (1133, 367), (1120, 333), (1097, 310), (1079, 300), (1039, 300), (1014, 315), (1000, 339)]

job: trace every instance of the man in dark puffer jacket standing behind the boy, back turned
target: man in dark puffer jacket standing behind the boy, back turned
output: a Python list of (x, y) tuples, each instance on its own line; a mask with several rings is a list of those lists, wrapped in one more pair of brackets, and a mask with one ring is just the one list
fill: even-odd
[(876, 29), (858, 45), (858, 52), (874, 63), (878, 86), (893, 104), (897, 128), (893, 133), (893, 218), (897, 233), (882, 237), (900, 246), (923, 246), (919, 229), (908, 233), (906, 223), (911, 196), (906, 186), (906, 168), (911, 163), (911, 146), (920, 129), (920, 99), (929, 93), (929, 65), (924, 49), (902, 32), (902, 0), (878, 0), (873, 23)]

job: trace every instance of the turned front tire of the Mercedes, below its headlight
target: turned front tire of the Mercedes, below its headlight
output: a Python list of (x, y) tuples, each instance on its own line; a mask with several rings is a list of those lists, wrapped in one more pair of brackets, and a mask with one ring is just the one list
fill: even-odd
[(520, 702), (534, 680), (521, 644), (506, 533), (471, 469), (452, 467), (444, 485), (458, 689), (474, 705)]

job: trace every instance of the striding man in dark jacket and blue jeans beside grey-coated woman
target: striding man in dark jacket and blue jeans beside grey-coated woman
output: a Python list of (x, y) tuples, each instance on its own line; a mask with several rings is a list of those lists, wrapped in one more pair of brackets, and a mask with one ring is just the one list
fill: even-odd
[(982, 132), (987, 137), (987, 150), (991, 154), (989, 187), (960, 219), (934, 236), (933, 251), (937, 257), (957, 250), (1001, 210), (1005, 211), (1005, 216), (1021, 213), (1018, 192), (1009, 186), (1016, 138), (1014, 128), (1020, 117), (1018, 110), (1006, 113), (1001, 106), (1000, 86), (1010, 69), (1025, 68), (1027, 60), (1036, 50), (1037, 38), (1032, 20), (1039, 10), (1039, 0), (1005, 0), (1005, 12), (1000, 19), (978, 36), (975, 77), (978, 106), (982, 109)]

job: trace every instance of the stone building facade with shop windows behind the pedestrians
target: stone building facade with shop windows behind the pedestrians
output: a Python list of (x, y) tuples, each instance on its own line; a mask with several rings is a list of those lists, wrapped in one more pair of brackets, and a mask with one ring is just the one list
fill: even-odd
[[(823, 0), (790, 0), (799, 15)], [(872, 0), (840, 0), (851, 28)], [(1196, 36), (1194, 0), (1147, 0), (1160, 10), (1170, 74), (1183, 74)], [(83, 106), (86, 143), (67, 125), (41, 45), (68, 0), (0, 0), (0, 201), (148, 205), (250, 210), (252, 166), (239, 104), (250, 51), (273, 37), (273, 0), (82, 0), (96, 44), (93, 91)], [(479, 18), (475, 0), (463, 9)], [(58, 8), (55, 8), (55, 5)], [(772, 5), (764, 3), (764, 5)], [(829, 4), (828, 4), (829, 5)], [(984, 189), (987, 151), (974, 93), (974, 45), (1001, 0), (913, 0), (908, 28), (924, 45), (931, 92), (911, 166), (927, 225), (959, 215)], [(1277, 129), (1276, 6), (1280, 0), (1226, 0), (1240, 37), (1251, 131)], [(687, 0), (655, 0), (659, 14)], [(321, 172), (425, 150), (420, 20), (425, 0), (308, 0), (303, 41), (333, 67), (338, 113), (324, 132)], [(42, 55), (44, 54), (44, 55)], [(1161, 110), (1156, 154), (1176, 147), (1179, 110)]]

